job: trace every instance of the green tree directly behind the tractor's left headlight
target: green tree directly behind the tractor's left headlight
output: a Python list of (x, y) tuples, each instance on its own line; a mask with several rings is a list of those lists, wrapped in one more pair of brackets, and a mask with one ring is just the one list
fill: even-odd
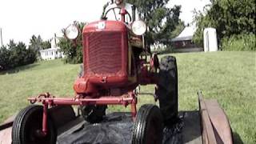
[[(63, 37), (59, 38), (58, 46), (61, 51), (66, 55), (65, 61), (68, 63), (81, 63), (82, 62), (82, 28), (86, 25), (84, 22), (75, 22), (78, 26), (80, 33), (76, 42), (74, 43), (70, 39)], [(62, 29), (63, 35), (65, 35), (65, 29)], [(76, 46), (74, 46), (76, 44)]]

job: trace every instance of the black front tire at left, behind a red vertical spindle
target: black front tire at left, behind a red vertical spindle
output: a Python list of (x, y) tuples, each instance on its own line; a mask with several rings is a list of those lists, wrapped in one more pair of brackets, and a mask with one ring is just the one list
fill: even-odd
[(18, 113), (12, 128), (12, 144), (56, 143), (57, 131), (49, 116), (46, 136), (38, 136), (38, 131), (42, 130), (42, 112), (42, 106), (30, 105)]

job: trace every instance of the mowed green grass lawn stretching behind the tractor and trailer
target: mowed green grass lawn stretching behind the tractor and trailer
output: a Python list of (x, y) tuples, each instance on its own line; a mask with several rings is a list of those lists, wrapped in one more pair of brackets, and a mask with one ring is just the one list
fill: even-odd
[[(256, 143), (256, 53), (214, 52), (171, 54), (178, 61), (179, 110), (198, 110), (197, 91), (218, 100), (230, 118), (235, 143)], [(163, 57), (164, 55), (161, 55)], [(73, 96), (79, 65), (61, 60), (38, 62), (0, 73), (0, 123), (30, 103), (31, 95), (44, 92)], [(154, 86), (142, 86), (154, 92)], [(139, 106), (152, 102), (140, 96)], [(130, 110), (109, 106), (108, 111)]]

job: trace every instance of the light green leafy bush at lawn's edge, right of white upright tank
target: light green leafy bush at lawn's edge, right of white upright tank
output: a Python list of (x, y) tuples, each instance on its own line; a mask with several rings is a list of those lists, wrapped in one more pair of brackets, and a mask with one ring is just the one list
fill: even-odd
[(232, 35), (230, 38), (222, 38), (222, 50), (226, 51), (256, 51), (254, 34)]

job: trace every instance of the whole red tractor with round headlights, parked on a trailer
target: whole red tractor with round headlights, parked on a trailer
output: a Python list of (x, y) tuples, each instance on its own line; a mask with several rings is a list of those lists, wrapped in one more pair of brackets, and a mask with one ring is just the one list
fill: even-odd
[[(112, 9), (120, 9), (114, 7)], [(108, 13), (110, 10), (106, 11)], [(133, 12), (134, 13), (134, 12)], [(83, 68), (74, 82), (74, 98), (55, 98), (46, 93), (28, 98), (31, 103), (14, 120), (13, 144), (56, 143), (57, 130), (51, 115), (54, 107), (80, 106), (87, 122), (101, 122), (107, 105), (130, 105), (134, 121), (132, 143), (162, 142), (164, 126), (171, 125), (178, 115), (178, 74), (172, 56), (158, 62), (157, 54), (146, 48), (143, 34), (146, 24), (135, 21), (134, 14), (120, 9), (122, 21), (91, 22), (82, 30)], [(125, 22), (128, 15), (131, 24)], [(75, 25), (66, 29), (66, 37), (75, 39), (79, 30)], [(140, 85), (154, 84), (159, 105), (143, 105), (137, 112)]]

